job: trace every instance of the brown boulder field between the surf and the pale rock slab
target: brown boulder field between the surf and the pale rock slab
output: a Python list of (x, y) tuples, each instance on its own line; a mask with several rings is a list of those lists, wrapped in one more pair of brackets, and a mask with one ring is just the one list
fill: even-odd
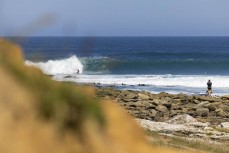
[(189, 114), (199, 121), (218, 125), (229, 120), (227, 96), (206, 97), (185, 94), (152, 94), (140, 91), (122, 91), (98, 88), (97, 97), (109, 95), (136, 118), (164, 122), (176, 115)]

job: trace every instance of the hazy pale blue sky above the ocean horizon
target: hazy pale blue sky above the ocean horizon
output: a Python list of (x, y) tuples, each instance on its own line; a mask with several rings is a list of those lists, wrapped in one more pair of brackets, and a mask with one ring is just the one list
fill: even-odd
[(229, 0), (0, 0), (0, 36), (229, 36)]

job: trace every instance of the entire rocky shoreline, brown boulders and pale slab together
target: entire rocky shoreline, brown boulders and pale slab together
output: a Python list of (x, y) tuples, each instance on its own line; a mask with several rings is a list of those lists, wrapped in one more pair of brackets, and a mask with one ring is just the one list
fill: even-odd
[(229, 141), (229, 96), (152, 94), (100, 87), (98, 98), (118, 103), (144, 128), (181, 137)]

